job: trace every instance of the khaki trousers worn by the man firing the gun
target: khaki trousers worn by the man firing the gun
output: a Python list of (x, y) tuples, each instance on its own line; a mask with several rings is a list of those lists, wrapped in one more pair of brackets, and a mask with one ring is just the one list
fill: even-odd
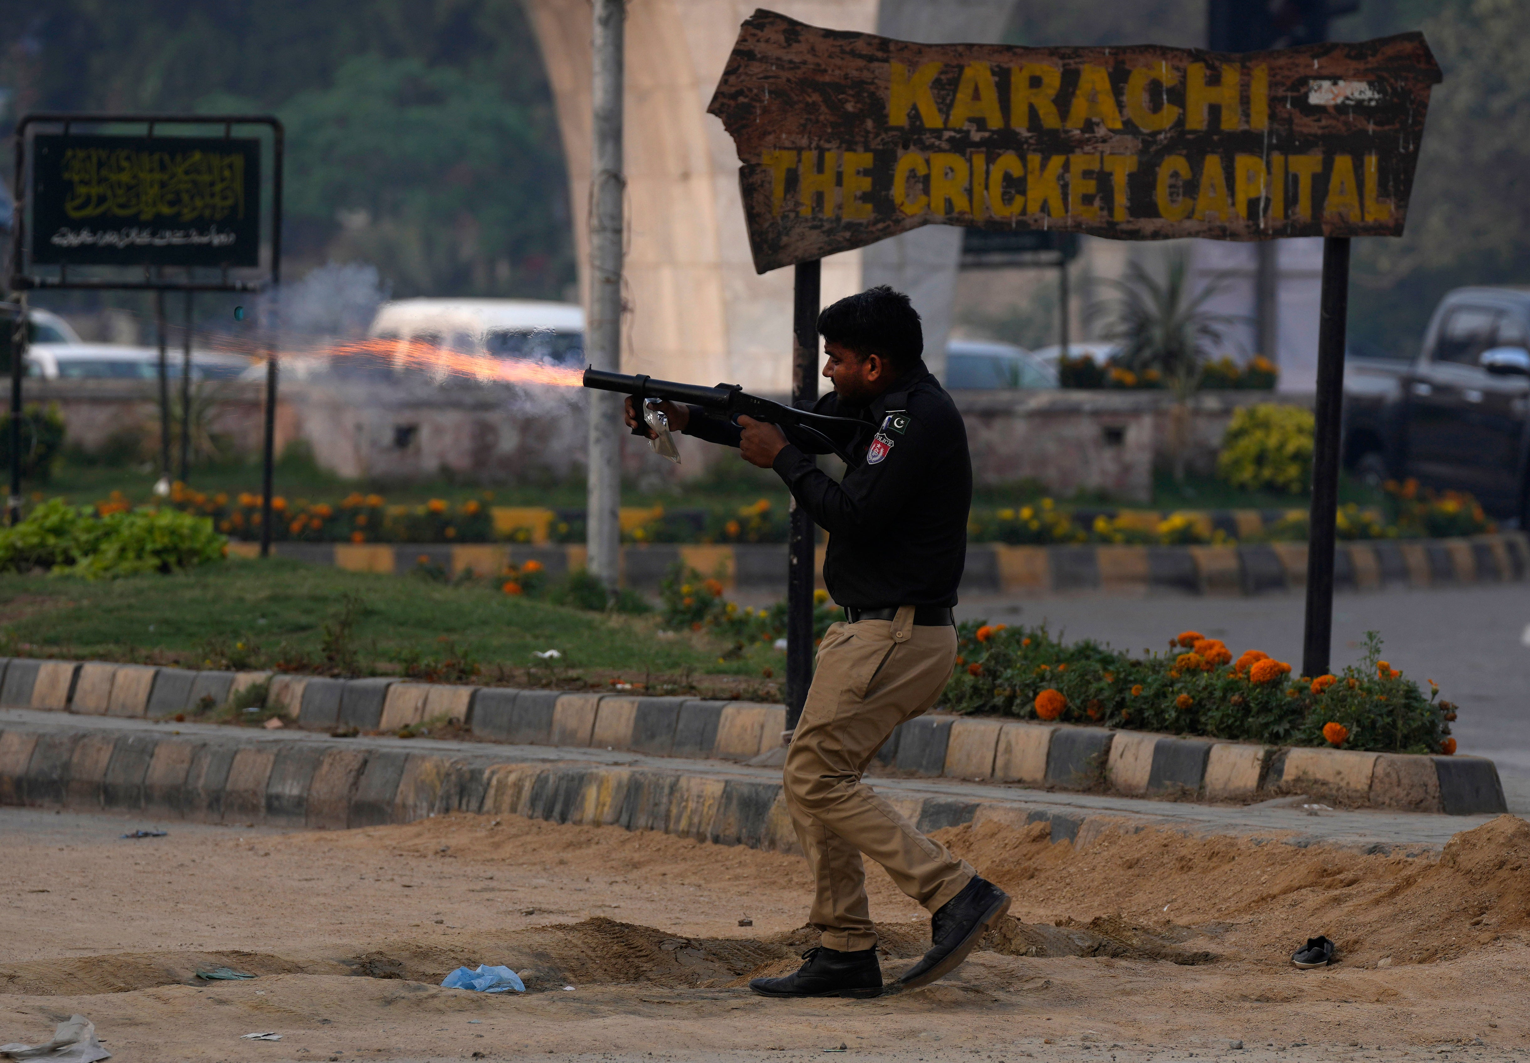
[(877, 947), (861, 853), (930, 912), (973, 876), (965, 861), (920, 834), (861, 782), (892, 730), (935, 704), (955, 662), (956, 630), (915, 627), (912, 606), (890, 621), (834, 624), (819, 645), (783, 782), (814, 881), (808, 922), (826, 948)]

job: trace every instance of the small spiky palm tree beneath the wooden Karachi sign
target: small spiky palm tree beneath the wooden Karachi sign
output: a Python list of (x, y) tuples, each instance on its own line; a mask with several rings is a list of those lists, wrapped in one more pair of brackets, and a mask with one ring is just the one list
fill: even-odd
[(1140, 262), (1126, 268), (1125, 280), (1106, 281), (1120, 298), (1092, 309), (1105, 318), (1100, 335), (1121, 344), (1117, 364), (1138, 376), (1157, 370), (1174, 395), (1169, 418), (1169, 453), (1174, 479), (1184, 483), (1184, 462), (1190, 437), (1190, 396), (1201, 385), (1210, 355), (1221, 346), (1224, 329), (1233, 318), (1206, 309), (1206, 301), (1221, 288), (1219, 281), (1192, 291), (1189, 255), (1172, 248), (1163, 277)]

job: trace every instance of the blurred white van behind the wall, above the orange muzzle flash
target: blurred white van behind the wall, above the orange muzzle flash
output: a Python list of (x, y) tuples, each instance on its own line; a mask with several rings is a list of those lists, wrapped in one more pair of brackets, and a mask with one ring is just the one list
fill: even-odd
[(584, 364), (584, 310), (519, 298), (405, 298), (384, 303), (367, 335), (465, 355)]

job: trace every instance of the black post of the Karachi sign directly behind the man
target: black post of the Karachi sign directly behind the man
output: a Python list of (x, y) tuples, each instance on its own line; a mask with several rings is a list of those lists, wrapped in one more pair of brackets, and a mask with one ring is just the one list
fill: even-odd
[[(791, 314), (791, 404), (811, 405), (819, 398), (819, 304), (822, 262), (799, 262)], [(791, 500), (791, 535), (786, 546), (786, 730), (802, 719), (812, 685), (812, 590), (817, 572), (817, 526)]]

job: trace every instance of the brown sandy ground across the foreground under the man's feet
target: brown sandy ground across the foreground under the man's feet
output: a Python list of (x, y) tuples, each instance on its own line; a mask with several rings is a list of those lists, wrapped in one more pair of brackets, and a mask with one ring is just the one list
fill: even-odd
[[(81, 1013), (116, 1060), (1530, 1055), (1530, 824), (1512, 817), (1417, 858), (952, 829), (1016, 919), (944, 982), (869, 1002), (745, 988), (812, 941), (796, 857), (471, 815), (119, 838), (147, 826), (0, 809), (0, 1043)], [(890, 979), (929, 924), (880, 869), (871, 887)], [(1343, 962), (1291, 968), (1316, 933)], [(439, 988), (480, 962), (529, 991)], [(196, 979), (219, 965), (259, 977)], [(240, 1040), (263, 1031), (282, 1042)]]

